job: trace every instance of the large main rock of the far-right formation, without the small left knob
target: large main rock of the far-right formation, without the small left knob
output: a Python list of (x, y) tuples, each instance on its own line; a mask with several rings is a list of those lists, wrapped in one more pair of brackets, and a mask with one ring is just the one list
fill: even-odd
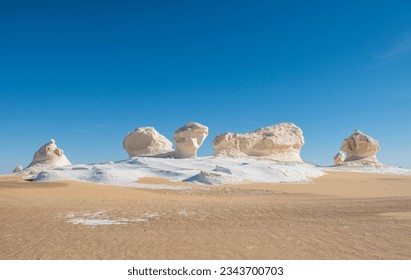
[(341, 151), (347, 155), (345, 162), (363, 160), (378, 163), (375, 155), (379, 150), (378, 141), (359, 130), (355, 130), (341, 146)]

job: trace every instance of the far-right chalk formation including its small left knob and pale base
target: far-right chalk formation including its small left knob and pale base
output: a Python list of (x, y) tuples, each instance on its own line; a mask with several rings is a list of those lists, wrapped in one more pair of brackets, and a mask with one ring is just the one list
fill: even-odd
[(336, 156), (334, 163), (336, 165), (379, 166), (382, 164), (375, 156), (379, 150), (380, 144), (377, 140), (359, 130), (354, 130), (354, 133), (341, 145), (342, 152), (339, 154), (344, 153), (346, 158), (341, 163), (340, 160), (336, 161)]

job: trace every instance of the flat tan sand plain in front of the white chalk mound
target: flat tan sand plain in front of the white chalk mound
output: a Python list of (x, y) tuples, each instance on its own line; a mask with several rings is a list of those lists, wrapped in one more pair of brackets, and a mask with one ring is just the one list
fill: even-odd
[(185, 191), (0, 177), (1, 259), (411, 259), (410, 236), (410, 176)]

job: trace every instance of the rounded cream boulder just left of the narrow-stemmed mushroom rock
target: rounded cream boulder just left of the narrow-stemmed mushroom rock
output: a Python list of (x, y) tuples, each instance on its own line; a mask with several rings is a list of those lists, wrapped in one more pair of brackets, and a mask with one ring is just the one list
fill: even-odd
[(136, 128), (123, 140), (123, 148), (130, 157), (155, 156), (173, 150), (173, 144), (153, 127)]

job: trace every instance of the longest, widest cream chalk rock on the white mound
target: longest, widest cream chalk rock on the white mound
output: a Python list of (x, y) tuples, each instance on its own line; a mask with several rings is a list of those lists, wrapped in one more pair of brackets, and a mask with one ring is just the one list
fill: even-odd
[(302, 130), (292, 123), (280, 123), (252, 133), (224, 133), (213, 141), (215, 156), (253, 157), (284, 162), (302, 162)]

